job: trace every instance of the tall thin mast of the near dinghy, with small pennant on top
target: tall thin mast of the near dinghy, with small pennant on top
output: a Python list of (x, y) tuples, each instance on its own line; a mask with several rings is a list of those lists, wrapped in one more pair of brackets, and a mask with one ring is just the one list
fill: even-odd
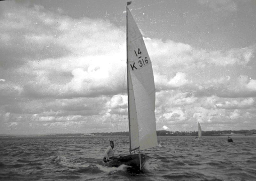
[(128, 102), (128, 124), (129, 124), (129, 146), (130, 146), (130, 155), (132, 153), (131, 148), (131, 124), (130, 124), (130, 105), (129, 105), (129, 63), (128, 63), (128, 5), (131, 4), (131, 2), (127, 2), (126, 4), (126, 72), (127, 72), (127, 102)]

